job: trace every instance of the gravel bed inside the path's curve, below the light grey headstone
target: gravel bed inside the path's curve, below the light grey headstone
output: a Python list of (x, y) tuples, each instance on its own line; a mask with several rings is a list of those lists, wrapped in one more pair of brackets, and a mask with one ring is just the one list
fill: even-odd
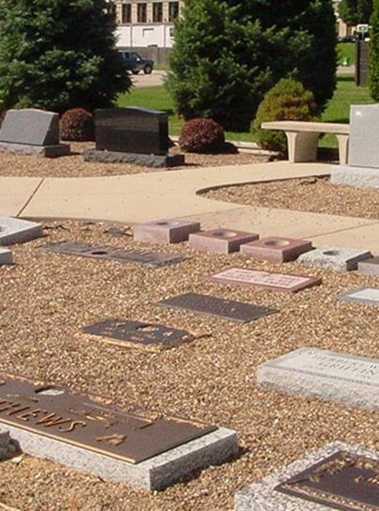
[(222, 187), (204, 194), (234, 204), (379, 219), (377, 189), (332, 185), (329, 177)]

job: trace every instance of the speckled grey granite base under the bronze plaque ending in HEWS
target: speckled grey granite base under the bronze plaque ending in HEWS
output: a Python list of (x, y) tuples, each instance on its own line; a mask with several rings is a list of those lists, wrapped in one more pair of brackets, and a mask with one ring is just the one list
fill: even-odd
[(201, 468), (235, 458), (239, 451), (237, 434), (221, 428), (134, 465), (0, 422), (2, 432), (10, 432), (26, 454), (145, 490), (164, 490)]

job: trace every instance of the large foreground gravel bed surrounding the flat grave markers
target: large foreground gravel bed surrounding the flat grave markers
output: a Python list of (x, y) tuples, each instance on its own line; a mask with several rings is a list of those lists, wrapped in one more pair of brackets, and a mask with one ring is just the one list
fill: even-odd
[[(11, 267), (0, 268), (0, 371), (108, 395), (115, 404), (199, 419), (237, 430), (242, 455), (208, 468), (163, 493), (108, 483), (50, 461), (23, 456), (0, 463), (0, 502), (22, 511), (232, 510), (244, 485), (341, 440), (379, 449), (378, 414), (257, 388), (259, 363), (300, 346), (379, 356), (378, 309), (339, 302), (336, 295), (375, 278), (332, 273), (298, 263), (275, 265), (242, 255), (208, 255), (187, 243), (164, 247), (190, 259), (166, 268), (59, 255), (42, 243), (76, 239), (113, 246), (156, 248), (104, 233), (106, 224), (45, 224), (47, 238), (13, 246)], [(319, 287), (288, 295), (220, 285), (203, 275), (225, 265), (322, 275)], [(281, 309), (251, 324), (154, 306), (181, 292), (202, 292)], [(162, 322), (198, 339), (162, 353), (89, 341), (81, 327), (106, 317)]]

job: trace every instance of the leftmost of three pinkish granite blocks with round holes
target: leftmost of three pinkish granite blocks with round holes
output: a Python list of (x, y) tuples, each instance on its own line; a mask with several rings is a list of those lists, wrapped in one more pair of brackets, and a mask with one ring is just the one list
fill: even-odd
[(162, 219), (135, 225), (133, 239), (152, 243), (179, 243), (187, 241), (190, 233), (197, 231), (200, 231), (200, 222)]

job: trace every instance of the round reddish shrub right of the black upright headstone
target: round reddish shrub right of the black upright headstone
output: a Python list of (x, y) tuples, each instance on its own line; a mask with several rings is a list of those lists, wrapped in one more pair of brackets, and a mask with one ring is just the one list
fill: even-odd
[(224, 130), (212, 119), (191, 119), (181, 128), (181, 149), (187, 153), (217, 153), (225, 146)]

